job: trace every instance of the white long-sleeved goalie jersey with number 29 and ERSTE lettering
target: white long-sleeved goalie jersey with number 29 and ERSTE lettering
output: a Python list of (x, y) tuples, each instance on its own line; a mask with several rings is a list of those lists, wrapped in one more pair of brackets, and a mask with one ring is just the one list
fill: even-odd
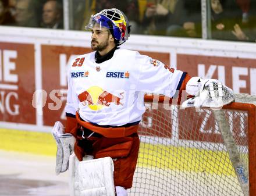
[(186, 73), (127, 49), (95, 63), (95, 52), (77, 56), (68, 72), (66, 112), (99, 125), (138, 122), (145, 112), (144, 94), (173, 97)]

